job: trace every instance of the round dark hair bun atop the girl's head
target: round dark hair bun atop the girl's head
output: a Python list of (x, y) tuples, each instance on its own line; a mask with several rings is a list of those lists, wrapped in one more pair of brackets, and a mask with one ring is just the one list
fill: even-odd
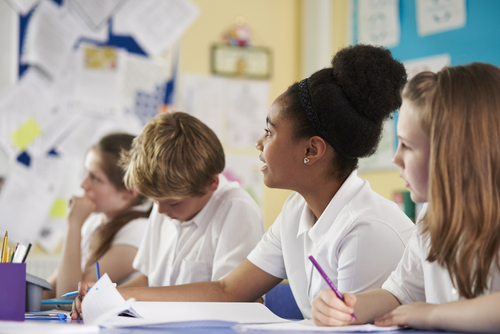
[(403, 64), (383, 47), (357, 44), (333, 57), (333, 76), (356, 110), (375, 122), (401, 106), (407, 81)]

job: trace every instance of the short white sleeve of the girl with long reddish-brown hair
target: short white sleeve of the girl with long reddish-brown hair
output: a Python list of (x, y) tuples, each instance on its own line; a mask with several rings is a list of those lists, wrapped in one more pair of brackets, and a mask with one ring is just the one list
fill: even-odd
[(419, 231), (412, 235), (398, 267), (382, 289), (392, 293), (401, 304), (425, 302), (425, 279), (422, 267)]

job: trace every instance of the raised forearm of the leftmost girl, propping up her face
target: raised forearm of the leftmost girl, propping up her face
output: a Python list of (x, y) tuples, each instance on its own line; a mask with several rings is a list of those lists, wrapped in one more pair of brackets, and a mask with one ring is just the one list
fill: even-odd
[(95, 210), (95, 204), (88, 197), (74, 197), (68, 215), (68, 231), (64, 239), (62, 258), (58, 268), (56, 296), (76, 290), (82, 279), (80, 244), (82, 226)]

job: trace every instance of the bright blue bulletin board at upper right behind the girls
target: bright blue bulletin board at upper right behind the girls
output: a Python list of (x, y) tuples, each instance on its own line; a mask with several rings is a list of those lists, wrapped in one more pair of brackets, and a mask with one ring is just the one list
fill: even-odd
[[(351, 1), (350, 31), (353, 44), (359, 41), (360, 1), (364, 0)], [(445, 0), (437, 0), (435, 3), (440, 1), (445, 2)], [(396, 59), (406, 64), (415, 59), (445, 55), (448, 58), (448, 65), (452, 66), (471, 62), (486, 62), (500, 66), (500, 38), (498, 36), (500, 1), (465, 0), (464, 3), (466, 22), (463, 27), (421, 36), (417, 27), (417, 0), (396, 0), (400, 36), (397, 45), (387, 46), (387, 48)], [(362, 170), (396, 168), (390, 162), (390, 157), (397, 147), (396, 123), (397, 114), (386, 124), (381, 146), (375, 156), (361, 161)]]

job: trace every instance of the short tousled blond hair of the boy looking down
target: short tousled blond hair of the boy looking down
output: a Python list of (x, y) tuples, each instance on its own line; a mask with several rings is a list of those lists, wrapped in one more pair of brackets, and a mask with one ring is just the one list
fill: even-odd
[(199, 119), (174, 112), (155, 116), (122, 152), (127, 188), (155, 199), (182, 199), (206, 194), (225, 165), (215, 133)]

